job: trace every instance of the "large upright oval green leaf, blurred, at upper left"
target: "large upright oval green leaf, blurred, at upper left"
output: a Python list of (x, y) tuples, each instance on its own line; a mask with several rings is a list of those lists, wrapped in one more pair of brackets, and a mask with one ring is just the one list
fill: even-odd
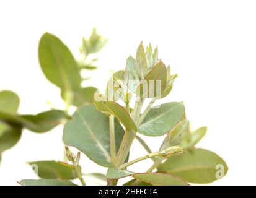
[(38, 56), (45, 77), (63, 92), (79, 90), (81, 76), (68, 47), (55, 35), (45, 33), (39, 43)]

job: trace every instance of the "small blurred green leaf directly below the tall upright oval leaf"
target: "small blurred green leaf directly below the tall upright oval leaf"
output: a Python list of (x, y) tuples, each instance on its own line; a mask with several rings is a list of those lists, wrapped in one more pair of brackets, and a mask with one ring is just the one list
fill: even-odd
[(84, 87), (74, 93), (73, 105), (82, 106), (87, 103), (94, 102), (94, 93), (97, 91), (95, 87)]

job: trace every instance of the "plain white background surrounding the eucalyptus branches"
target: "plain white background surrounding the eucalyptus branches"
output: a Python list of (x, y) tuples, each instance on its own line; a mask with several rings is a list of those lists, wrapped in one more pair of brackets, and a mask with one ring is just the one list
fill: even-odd
[[(227, 176), (214, 184), (255, 183), (255, 1), (0, 1), (0, 90), (20, 96), (19, 113), (63, 108), (60, 90), (50, 84), (37, 59), (38, 41), (54, 33), (79, 54), (82, 36), (93, 27), (110, 38), (99, 54), (99, 69), (86, 85), (105, 87), (110, 69), (125, 67), (140, 41), (158, 45), (159, 56), (179, 74), (173, 92), (161, 101), (184, 101), (192, 129), (208, 126), (198, 145), (226, 160)], [(63, 160), (62, 127), (45, 134), (24, 131), (2, 155), (0, 185), (37, 178), (26, 161)], [(160, 139), (147, 138), (152, 150)], [(144, 155), (135, 144), (131, 158)], [(84, 172), (105, 168), (84, 157)], [(140, 171), (149, 161), (140, 163)], [(131, 170), (135, 170), (133, 166)]]

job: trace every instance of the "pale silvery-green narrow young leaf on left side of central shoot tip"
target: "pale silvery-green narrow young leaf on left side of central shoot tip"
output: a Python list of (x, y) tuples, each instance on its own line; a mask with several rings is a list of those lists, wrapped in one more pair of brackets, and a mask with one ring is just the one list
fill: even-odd
[(126, 60), (125, 71), (129, 74), (128, 87), (131, 92), (135, 93), (141, 79), (139, 77), (139, 66), (132, 56), (129, 56)]

